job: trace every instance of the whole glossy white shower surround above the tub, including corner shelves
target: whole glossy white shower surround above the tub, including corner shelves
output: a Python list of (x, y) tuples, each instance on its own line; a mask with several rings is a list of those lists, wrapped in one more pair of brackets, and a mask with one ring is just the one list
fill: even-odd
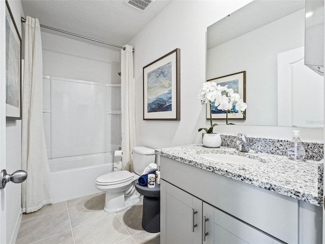
[(44, 76), (43, 92), (49, 159), (118, 150), (120, 84)]

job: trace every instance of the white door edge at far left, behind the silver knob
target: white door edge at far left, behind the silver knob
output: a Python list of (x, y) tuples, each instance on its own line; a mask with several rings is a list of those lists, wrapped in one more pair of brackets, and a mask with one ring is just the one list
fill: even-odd
[[(6, 169), (6, 2), (0, 1), (0, 170)], [(6, 189), (0, 190), (0, 243), (6, 239)]]

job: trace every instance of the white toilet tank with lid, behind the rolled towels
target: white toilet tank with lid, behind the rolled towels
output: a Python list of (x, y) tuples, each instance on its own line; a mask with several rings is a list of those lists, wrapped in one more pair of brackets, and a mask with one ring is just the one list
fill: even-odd
[(155, 162), (154, 149), (146, 146), (136, 146), (132, 148), (134, 172), (141, 175), (143, 170), (151, 163)]

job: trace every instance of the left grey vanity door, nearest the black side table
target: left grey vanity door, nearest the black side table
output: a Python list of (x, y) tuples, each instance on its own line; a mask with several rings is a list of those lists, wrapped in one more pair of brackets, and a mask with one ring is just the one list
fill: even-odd
[(202, 243), (201, 220), (202, 201), (161, 180), (160, 243)]

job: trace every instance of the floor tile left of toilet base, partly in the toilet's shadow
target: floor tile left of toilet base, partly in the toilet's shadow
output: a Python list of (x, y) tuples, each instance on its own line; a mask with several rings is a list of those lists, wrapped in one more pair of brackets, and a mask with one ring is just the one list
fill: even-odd
[(75, 228), (114, 215), (113, 213), (105, 212), (103, 209), (104, 199), (101, 195), (90, 198), (83, 205), (69, 208), (71, 227)]

